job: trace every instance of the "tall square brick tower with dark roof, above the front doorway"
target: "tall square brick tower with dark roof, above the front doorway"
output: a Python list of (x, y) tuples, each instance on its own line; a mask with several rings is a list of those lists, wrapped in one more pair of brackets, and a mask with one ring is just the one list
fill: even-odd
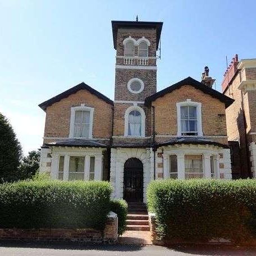
[[(112, 21), (116, 49), (114, 144), (124, 142), (124, 137), (125, 143), (139, 143), (150, 136), (150, 111), (144, 100), (157, 92), (156, 52), (161, 30), (162, 22)], [(128, 125), (129, 118), (132, 125)]]

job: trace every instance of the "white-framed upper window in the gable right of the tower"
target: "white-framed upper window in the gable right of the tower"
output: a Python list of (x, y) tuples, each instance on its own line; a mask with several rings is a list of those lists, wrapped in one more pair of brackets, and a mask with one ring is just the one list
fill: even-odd
[(186, 102), (176, 103), (177, 107), (177, 135), (202, 136), (201, 103)]

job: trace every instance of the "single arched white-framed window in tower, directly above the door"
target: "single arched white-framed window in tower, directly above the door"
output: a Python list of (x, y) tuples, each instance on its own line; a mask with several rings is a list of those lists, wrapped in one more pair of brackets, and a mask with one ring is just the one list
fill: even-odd
[(125, 136), (145, 136), (145, 113), (140, 107), (129, 107), (125, 112)]

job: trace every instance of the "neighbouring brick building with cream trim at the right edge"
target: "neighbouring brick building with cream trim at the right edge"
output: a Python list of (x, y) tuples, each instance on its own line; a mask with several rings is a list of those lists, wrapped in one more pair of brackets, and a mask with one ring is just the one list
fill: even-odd
[(235, 100), (226, 108), (233, 178), (256, 176), (256, 59), (238, 59), (228, 66), (222, 92)]

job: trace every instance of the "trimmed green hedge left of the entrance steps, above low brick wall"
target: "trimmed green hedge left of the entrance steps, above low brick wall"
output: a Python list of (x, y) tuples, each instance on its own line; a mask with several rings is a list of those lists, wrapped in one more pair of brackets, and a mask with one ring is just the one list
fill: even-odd
[(102, 230), (109, 211), (106, 181), (20, 181), (0, 185), (0, 228)]

